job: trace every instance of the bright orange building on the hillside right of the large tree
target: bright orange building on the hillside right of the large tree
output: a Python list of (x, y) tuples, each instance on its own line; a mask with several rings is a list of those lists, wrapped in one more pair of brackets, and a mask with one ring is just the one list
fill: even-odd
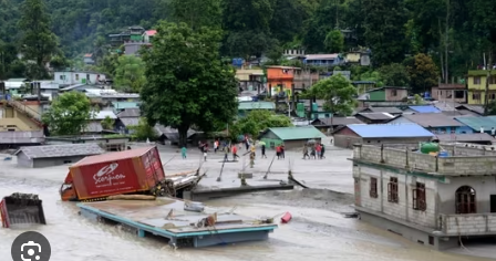
[(301, 75), (301, 69), (290, 66), (268, 66), (267, 86), (270, 96), (286, 92), (291, 95), (291, 88), (294, 87), (294, 79)]

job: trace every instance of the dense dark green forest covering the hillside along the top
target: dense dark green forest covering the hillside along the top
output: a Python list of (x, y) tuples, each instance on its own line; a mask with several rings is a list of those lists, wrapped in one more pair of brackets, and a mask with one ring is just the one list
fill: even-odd
[[(19, 76), (17, 61), (22, 0), (0, 0), (0, 77)], [(58, 58), (105, 55), (108, 33), (130, 25), (154, 28), (159, 20), (224, 31), (223, 56), (267, 55), (283, 49), (307, 53), (364, 46), (373, 67), (405, 64), (426, 54), (444, 79), (463, 76), (493, 56), (494, 0), (45, 0)], [(337, 33), (338, 32), (338, 33)], [(341, 32), (341, 33), (339, 33)], [(340, 40), (340, 36), (343, 40)], [(496, 62), (496, 61), (493, 61)], [(385, 70), (388, 71), (388, 70)]]

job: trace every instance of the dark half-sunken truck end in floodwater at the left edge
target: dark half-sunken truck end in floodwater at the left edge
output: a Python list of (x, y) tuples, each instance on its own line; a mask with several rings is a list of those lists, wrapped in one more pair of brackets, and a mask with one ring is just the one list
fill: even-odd
[(0, 201), (0, 217), (3, 228), (32, 223), (46, 225), (42, 200), (33, 194), (12, 194), (4, 197)]

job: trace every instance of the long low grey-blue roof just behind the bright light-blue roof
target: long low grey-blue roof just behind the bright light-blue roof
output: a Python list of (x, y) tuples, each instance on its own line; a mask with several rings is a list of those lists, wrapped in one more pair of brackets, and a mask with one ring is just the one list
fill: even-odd
[(404, 114), (389, 124), (416, 123), (433, 134), (469, 134), (473, 129), (443, 113)]

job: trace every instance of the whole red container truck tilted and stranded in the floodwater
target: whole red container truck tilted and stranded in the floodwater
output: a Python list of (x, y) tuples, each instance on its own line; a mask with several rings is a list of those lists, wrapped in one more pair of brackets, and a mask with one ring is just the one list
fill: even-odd
[(165, 179), (158, 149), (154, 146), (83, 158), (69, 168), (60, 195), (63, 201), (125, 194), (164, 196), (174, 191), (173, 186)]

